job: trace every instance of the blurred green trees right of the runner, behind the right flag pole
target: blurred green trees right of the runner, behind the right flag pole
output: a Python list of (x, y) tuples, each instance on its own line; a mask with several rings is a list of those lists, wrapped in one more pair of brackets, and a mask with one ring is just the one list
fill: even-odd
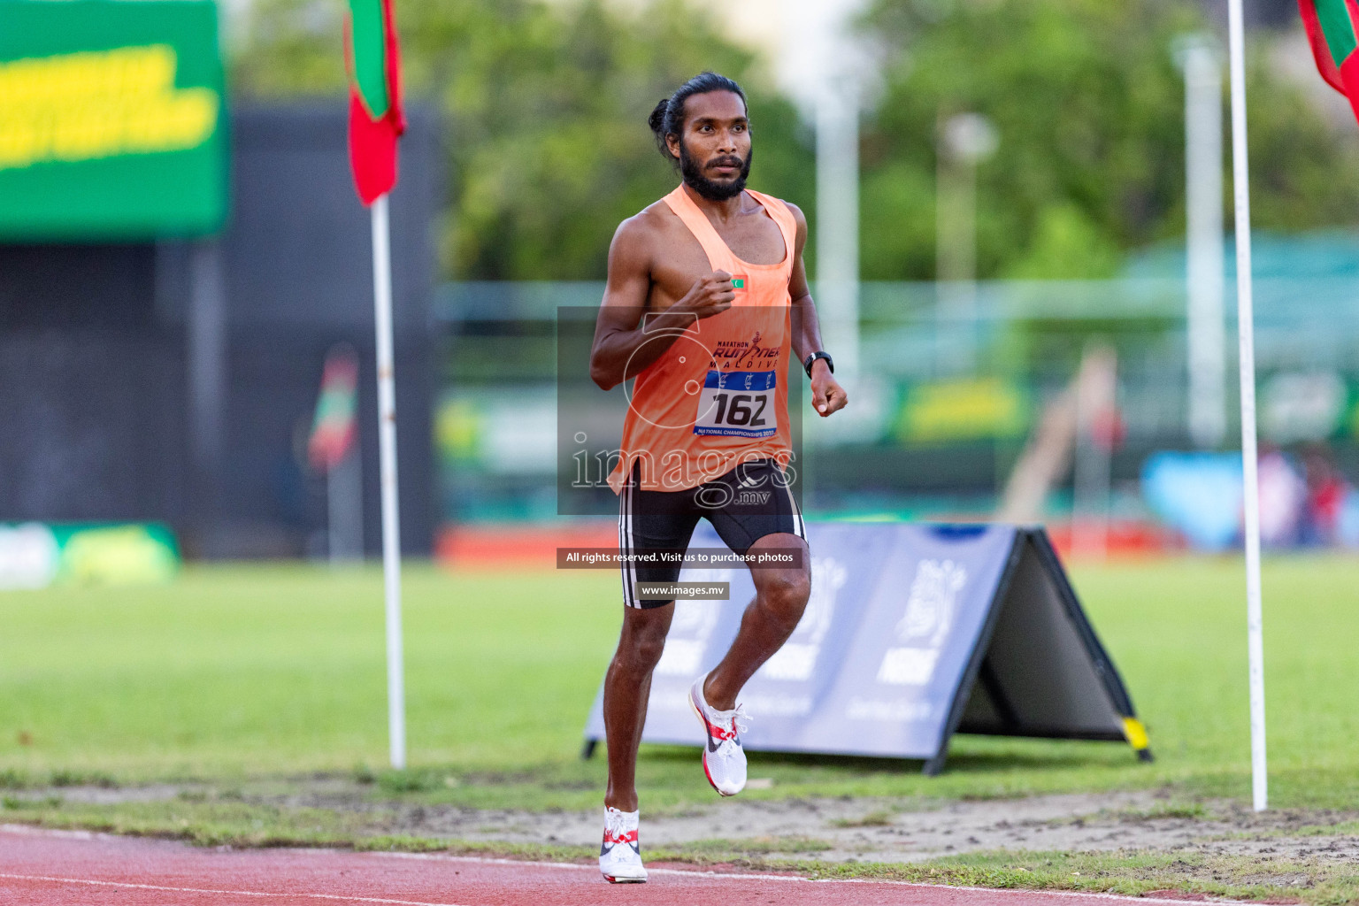
[[(864, 277), (934, 276), (935, 136), (961, 111), (1000, 136), (977, 177), (981, 276), (1106, 277), (1124, 250), (1182, 235), (1173, 45), (1204, 24), (1166, 0), (878, 0), (866, 27), (886, 49), (885, 94), (864, 136)], [(1254, 225), (1352, 223), (1359, 144), (1332, 134), (1268, 60), (1250, 49)], [(1230, 171), (1226, 182), (1230, 205)]]

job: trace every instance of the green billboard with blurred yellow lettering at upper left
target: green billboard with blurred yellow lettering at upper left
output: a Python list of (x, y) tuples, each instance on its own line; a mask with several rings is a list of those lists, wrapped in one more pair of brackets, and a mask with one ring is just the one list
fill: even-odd
[(224, 107), (211, 0), (0, 0), (0, 240), (216, 231)]

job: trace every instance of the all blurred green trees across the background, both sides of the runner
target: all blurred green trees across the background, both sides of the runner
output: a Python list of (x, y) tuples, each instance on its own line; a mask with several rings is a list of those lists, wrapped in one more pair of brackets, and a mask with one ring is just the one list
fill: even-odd
[[(234, 87), (338, 99), (341, 14), (337, 0), (255, 0)], [(605, 0), (401, 0), (398, 26), (408, 94), (447, 126), (448, 277), (602, 277), (617, 223), (674, 186), (647, 114), (708, 68), (750, 94), (752, 185), (815, 225), (810, 128), (711, 14), (682, 0), (631, 14)], [(959, 111), (1000, 136), (978, 170), (981, 277), (1108, 276), (1128, 250), (1184, 234), (1171, 45), (1204, 29), (1189, 0), (877, 0), (862, 26), (883, 61), (863, 124), (864, 278), (934, 277), (935, 136)], [(1267, 58), (1252, 48), (1254, 224), (1354, 223), (1359, 132), (1333, 132)]]

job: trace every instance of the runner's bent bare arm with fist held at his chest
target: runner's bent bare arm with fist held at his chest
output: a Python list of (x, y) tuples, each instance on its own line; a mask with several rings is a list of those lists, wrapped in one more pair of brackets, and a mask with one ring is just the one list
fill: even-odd
[(590, 378), (603, 390), (646, 371), (696, 318), (723, 312), (735, 299), (731, 274), (715, 270), (700, 277), (675, 304), (648, 314), (650, 238), (639, 219), (629, 217), (609, 246), (609, 284), (590, 350)]

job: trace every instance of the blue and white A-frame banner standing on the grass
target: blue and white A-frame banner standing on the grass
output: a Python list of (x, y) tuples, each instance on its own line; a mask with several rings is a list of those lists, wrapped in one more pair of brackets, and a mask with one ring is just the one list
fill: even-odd
[[(1147, 735), (1041, 528), (809, 523), (811, 599), (739, 701), (752, 751), (924, 759), (955, 732), (1127, 740)], [(692, 547), (723, 547), (700, 523)], [(745, 566), (686, 569), (730, 600), (681, 600), (651, 682), (643, 740), (701, 746), (688, 705), (722, 660), (754, 585)], [(605, 738), (603, 690), (586, 754)]]

